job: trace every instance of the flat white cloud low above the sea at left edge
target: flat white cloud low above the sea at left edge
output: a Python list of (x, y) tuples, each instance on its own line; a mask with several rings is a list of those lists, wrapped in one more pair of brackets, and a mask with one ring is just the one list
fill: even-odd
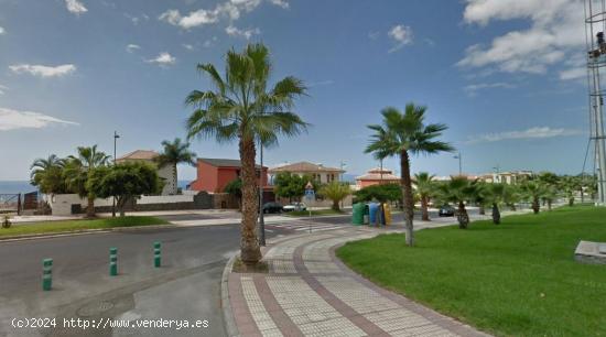
[(0, 131), (42, 129), (51, 124), (79, 126), (76, 122), (62, 120), (40, 112), (0, 108)]

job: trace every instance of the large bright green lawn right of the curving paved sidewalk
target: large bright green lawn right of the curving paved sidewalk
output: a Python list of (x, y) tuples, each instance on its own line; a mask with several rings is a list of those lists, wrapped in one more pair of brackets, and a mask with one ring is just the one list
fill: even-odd
[(337, 256), (377, 284), (499, 336), (606, 336), (606, 265), (574, 262), (578, 240), (606, 242), (606, 208), (350, 242)]

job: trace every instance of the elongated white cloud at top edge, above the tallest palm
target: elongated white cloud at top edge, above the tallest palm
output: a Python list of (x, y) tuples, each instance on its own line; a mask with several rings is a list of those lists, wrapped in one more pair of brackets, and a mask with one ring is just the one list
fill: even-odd
[[(217, 23), (220, 20), (235, 21), (240, 19), (242, 13), (251, 12), (261, 4), (262, 0), (228, 0), (218, 3), (214, 9), (198, 9), (187, 14), (182, 14), (178, 10), (167, 10), (160, 14), (160, 21), (190, 30), (196, 26)], [(289, 8), (284, 0), (269, 0), (270, 3)]]

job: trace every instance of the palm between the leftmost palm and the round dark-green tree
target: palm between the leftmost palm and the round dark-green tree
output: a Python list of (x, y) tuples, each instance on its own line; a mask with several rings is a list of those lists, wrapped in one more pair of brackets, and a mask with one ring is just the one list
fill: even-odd
[(106, 166), (111, 156), (97, 151), (97, 145), (78, 146), (78, 155), (69, 155), (65, 164), (67, 185), (80, 197), (87, 198), (86, 217), (95, 217), (95, 194), (88, 188), (88, 180), (95, 168)]

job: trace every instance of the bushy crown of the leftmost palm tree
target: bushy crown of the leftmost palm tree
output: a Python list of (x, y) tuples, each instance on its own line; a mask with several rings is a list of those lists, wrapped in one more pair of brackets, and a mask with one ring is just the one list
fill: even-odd
[(31, 165), (30, 181), (33, 186), (37, 186), (44, 194), (66, 193), (67, 186), (63, 178), (63, 168), (65, 160), (55, 154), (46, 159), (36, 159)]

